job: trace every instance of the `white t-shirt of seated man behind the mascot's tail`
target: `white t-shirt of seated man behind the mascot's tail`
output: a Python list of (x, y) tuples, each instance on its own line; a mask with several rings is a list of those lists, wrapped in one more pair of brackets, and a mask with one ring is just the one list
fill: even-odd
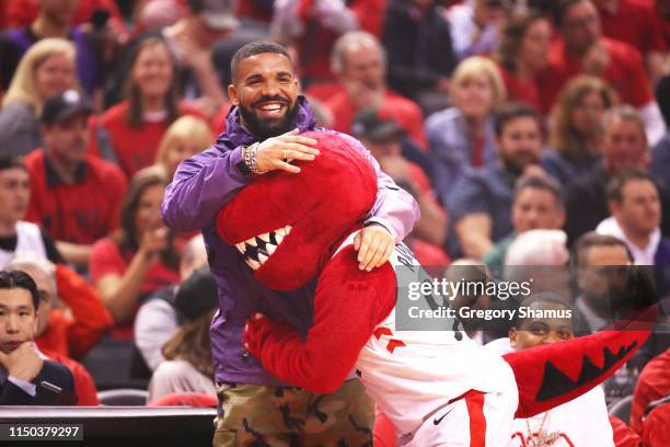
[[(486, 345), (487, 349), (506, 354), (512, 352), (509, 339)], [(589, 392), (529, 419), (516, 419), (509, 447), (547, 445), (552, 447), (613, 447), (613, 433), (604, 392), (596, 387)], [(544, 440), (545, 444), (540, 444)], [(533, 444), (538, 443), (538, 444)]]

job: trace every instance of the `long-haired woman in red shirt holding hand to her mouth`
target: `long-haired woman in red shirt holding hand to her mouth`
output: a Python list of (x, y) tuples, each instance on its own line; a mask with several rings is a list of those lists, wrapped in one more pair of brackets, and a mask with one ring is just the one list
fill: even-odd
[(178, 255), (161, 218), (166, 180), (161, 169), (139, 171), (128, 185), (119, 229), (93, 244), (89, 272), (114, 317), (117, 337), (131, 336), (131, 322), (148, 294), (175, 283)]

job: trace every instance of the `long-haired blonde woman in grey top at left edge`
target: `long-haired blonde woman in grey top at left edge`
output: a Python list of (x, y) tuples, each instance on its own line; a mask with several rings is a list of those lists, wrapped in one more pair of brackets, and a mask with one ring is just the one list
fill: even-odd
[(23, 56), (2, 100), (0, 148), (5, 156), (25, 156), (42, 146), (39, 115), (46, 100), (77, 89), (74, 46), (62, 38), (43, 38)]

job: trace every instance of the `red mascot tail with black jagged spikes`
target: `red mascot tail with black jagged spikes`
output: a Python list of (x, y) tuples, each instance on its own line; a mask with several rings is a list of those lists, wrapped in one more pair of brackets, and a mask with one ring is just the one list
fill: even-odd
[(506, 354), (519, 388), (516, 417), (568, 402), (614, 374), (649, 336), (657, 307), (592, 335)]

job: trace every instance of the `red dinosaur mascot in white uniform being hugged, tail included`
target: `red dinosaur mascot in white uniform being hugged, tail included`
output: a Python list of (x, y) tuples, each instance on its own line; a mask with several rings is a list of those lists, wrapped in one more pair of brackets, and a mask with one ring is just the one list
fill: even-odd
[(297, 163), (299, 174), (254, 177), (217, 220), (221, 238), (266, 286), (291, 290), (317, 279), (305, 340), (261, 314), (246, 324), (247, 349), (278, 378), (332, 392), (354, 370), (400, 444), (503, 446), (515, 416), (585, 393), (648, 336), (650, 324), (633, 321), (638, 325), (500, 357), (463, 331), (396, 330), (394, 265), (418, 263), (398, 245), (389, 263), (359, 270), (353, 241), (377, 195), (372, 168), (333, 134), (305, 136), (319, 141), (314, 161)]

